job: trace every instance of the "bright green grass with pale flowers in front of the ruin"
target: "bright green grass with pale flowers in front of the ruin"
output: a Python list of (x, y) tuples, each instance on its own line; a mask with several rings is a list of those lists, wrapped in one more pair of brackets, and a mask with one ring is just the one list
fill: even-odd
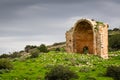
[(95, 55), (49, 52), (38, 58), (16, 58), (12, 63), (13, 70), (0, 73), (0, 80), (44, 80), (54, 65), (70, 67), (79, 75), (77, 80), (113, 80), (104, 74), (108, 66), (120, 65), (120, 51), (110, 52), (108, 60)]

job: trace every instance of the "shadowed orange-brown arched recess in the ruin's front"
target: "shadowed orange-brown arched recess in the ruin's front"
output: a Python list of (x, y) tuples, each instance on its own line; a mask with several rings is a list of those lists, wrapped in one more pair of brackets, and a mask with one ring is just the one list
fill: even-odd
[(84, 53), (83, 49), (87, 47), (90, 54), (94, 53), (93, 26), (88, 21), (80, 21), (76, 24), (73, 38), (75, 52)]

